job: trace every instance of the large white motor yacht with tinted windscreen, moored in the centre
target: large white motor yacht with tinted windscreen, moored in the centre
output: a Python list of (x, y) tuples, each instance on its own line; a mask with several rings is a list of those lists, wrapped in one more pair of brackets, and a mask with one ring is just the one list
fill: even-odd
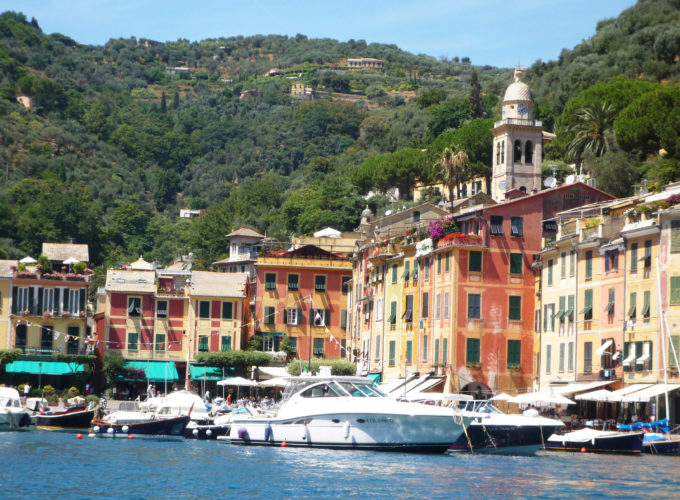
[(396, 401), (364, 377), (292, 377), (269, 413), (235, 412), (234, 444), (443, 453), (470, 418)]

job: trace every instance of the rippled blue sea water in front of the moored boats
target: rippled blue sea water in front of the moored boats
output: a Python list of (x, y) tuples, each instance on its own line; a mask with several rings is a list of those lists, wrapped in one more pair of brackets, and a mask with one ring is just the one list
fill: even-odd
[(0, 434), (2, 498), (507, 498), (680, 495), (680, 457), (416, 455), (221, 441)]

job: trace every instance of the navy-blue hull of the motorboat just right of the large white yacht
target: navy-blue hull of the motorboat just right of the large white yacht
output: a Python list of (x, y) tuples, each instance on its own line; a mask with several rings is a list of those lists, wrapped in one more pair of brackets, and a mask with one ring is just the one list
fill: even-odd
[[(472, 422), (451, 446), (451, 451), (470, 451), (496, 454), (532, 454), (560, 427), (555, 425), (494, 425)], [(469, 437), (469, 442), (468, 442)]]

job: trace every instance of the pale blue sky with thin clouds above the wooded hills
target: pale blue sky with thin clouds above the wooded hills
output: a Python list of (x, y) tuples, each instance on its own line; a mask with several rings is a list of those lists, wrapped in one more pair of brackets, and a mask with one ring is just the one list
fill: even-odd
[[(0, 0), (45, 33), (102, 45), (110, 38), (191, 41), (290, 35), (396, 44), (474, 65), (557, 59), (635, 0)], [(356, 54), (361, 56), (363, 54)]]

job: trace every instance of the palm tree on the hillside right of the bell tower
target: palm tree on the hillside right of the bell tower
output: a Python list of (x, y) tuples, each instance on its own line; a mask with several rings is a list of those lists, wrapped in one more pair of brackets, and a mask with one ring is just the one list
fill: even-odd
[(567, 128), (573, 138), (567, 145), (567, 159), (576, 162), (580, 172), (587, 153), (602, 156), (612, 149), (611, 130), (617, 111), (611, 104), (595, 101), (576, 112), (576, 120)]

